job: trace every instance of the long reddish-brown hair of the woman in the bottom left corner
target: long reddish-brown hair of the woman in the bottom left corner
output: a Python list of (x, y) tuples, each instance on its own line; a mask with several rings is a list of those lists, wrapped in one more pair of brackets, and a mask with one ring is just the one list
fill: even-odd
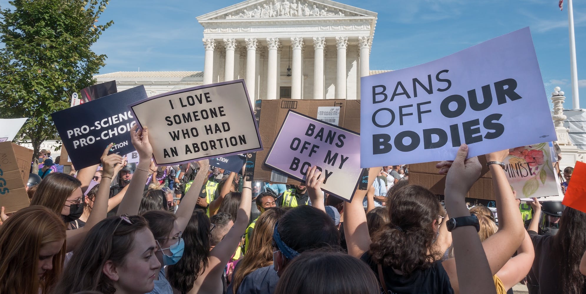
[[(9, 217), (0, 226), (0, 293), (49, 293), (63, 269), (65, 230), (61, 218), (43, 206), (22, 208)], [(39, 279), (39, 251), (54, 241), (63, 241), (63, 246), (53, 257), (53, 269)]]

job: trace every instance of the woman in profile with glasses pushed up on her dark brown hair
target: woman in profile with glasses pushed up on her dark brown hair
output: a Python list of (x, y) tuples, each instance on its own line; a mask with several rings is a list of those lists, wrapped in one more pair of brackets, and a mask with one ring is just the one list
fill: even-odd
[(108, 217), (76, 248), (53, 293), (147, 293), (154, 288), (161, 266), (155, 248), (155, 238), (143, 217)]

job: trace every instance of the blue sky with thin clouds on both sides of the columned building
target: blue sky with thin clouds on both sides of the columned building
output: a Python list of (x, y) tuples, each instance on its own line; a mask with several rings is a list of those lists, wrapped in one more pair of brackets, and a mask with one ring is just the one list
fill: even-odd
[[(6, 0), (0, 0), (2, 8)], [(529, 26), (546, 93), (559, 86), (571, 108), (567, 7), (558, 0), (343, 0), (379, 13), (370, 69), (397, 70), (458, 52)], [(564, 1), (564, 2), (567, 2)], [(111, 0), (113, 19), (93, 50), (107, 54), (100, 73), (203, 70), (203, 27), (196, 17), (238, 3), (197, 0)], [(565, 5), (567, 6), (567, 5)], [(581, 107), (586, 108), (586, 3), (574, 1)]]

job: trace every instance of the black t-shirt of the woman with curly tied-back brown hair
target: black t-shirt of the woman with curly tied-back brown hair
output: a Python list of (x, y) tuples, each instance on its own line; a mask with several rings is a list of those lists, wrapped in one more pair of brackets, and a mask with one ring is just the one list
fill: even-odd
[[(378, 265), (369, 253), (364, 253), (360, 259), (370, 266), (378, 279)], [(392, 268), (383, 265), (383, 277), (389, 294), (454, 293), (441, 261), (434, 262), (430, 268), (423, 271), (415, 271), (410, 276), (396, 274)]]

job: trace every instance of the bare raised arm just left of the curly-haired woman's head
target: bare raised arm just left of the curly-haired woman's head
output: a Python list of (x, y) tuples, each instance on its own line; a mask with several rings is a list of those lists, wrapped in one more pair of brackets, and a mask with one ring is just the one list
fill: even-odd
[[(381, 167), (371, 167), (368, 176), (368, 186), (372, 186)], [(344, 202), (344, 234), (348, 254), (360, 258), (370, 248), (370, 234), (366, 225), (366, 214), (362, 200), (366, 190), (356, 190), (352, 202)]]

